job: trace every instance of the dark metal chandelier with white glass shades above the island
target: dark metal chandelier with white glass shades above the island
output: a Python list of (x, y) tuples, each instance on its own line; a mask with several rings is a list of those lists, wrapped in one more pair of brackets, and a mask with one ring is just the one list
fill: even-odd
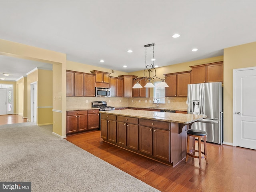
[[(153, 58), (152, 58), (153, 64), (147, 65), (147, 47), (151, 47), (151, 46), (153, 46)], [(144, 47), (146, 48), (146, 62), (145, 62), (144, 75), (143, 75), (143, 78), (140, 78), (139, 80), (138, 80), (138, 78), (134, 79), (134, 81), (136, 82), (136, 84), (134, 84), (134, 86), (132, 87), (134, 89), (142, 88), (141, 84), (139, 83), (142, 80), (145, 80), (146, 82), (148, 82), (144, 87), (146, 87), (146, 88), (155, 87), (154, 84), (152, 84), (152, 82), (151, 82), (151, 81), (154, 81), (155, 78), (157, 78), (159, 80), (162, 80), (162, 82), (160, 84), (158, 84), (158, 87), (168, 87), (168, 85), (165, 82), (165, 79), (166, 79), (165, 75), (164, 75), (163, 79), (156, 76), (156, 69), (154, 68), (154, 61), (155, 61), (155, 59), (154, 59), (154, 46), (155, 46), (154, 43), (144, 45)], [(148, 76), (145, 76), (145, 72), (148, 73)], [(150, 73), (152, 73), (154, 76), (151, 77)]]

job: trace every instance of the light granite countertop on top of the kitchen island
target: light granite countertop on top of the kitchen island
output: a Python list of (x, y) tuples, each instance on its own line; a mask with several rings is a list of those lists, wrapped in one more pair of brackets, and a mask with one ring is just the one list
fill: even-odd
[(207, 117), (205, 115), (143, 111), (143, 110), (133, 110), (133, 109), (100, 111), (100, 113), (120, 115), (120, 116), (126, 116), (126, 117), (152, 119), (152, 120), (161, 120), (166, 122), (176, 122), (176, 123), (183, 123), (183, 124), (190, 124), (192, 122), (195, 122)]

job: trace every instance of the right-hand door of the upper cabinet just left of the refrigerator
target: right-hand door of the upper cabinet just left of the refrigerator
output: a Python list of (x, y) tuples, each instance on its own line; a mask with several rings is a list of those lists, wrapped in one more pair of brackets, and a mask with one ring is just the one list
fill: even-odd
[(177, 96), (188, 96), (188, 84), (190, 84), (190, 73), (177, 74)]

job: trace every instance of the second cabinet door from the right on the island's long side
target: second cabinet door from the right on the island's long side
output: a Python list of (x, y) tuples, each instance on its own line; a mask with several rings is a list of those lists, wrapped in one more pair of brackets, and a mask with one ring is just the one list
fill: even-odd
[(152, 128), (140, 126), (140, 152), (152, 155), (153, 154), (153, 131)]

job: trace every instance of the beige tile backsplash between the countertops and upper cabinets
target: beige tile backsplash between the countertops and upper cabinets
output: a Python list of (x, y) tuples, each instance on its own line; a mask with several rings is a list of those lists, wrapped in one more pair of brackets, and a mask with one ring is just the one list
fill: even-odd
[[(166, 97), (165, 104), (159, 104), (160, 108), (187, 110), (186, 97)], [(156, 107), (153, 98), (122, 98), (122, 97), (66, 97), (67, 109), (90, 108), (92, 101), (106, 101), (108, 106), (118, 107)]]

